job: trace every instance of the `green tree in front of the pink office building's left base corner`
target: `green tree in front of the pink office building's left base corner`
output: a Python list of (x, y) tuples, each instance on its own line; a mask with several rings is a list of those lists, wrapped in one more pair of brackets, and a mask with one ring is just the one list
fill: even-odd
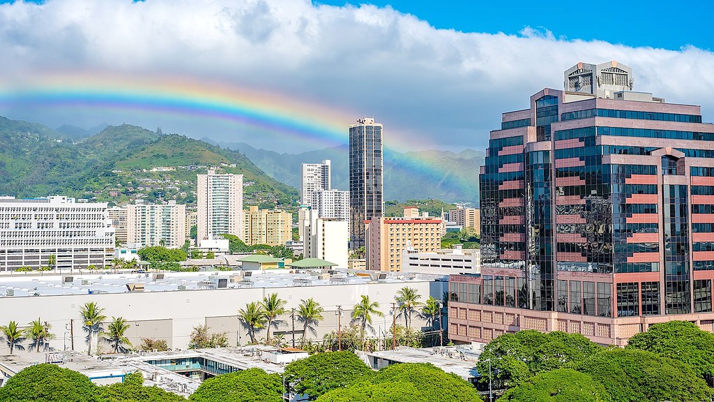
[[(503, 334), (488, 343), (483, 348), (476, 370), (488, 373), (487, 359), (491, 359), (494, 383), (498, 388), (511, 388), (545, 371), (574, 368), (600, 349), (600, 346), (579, 334), (521, 330)], [(488, 381), (488, 378), (484, 375), (481, 381)]]

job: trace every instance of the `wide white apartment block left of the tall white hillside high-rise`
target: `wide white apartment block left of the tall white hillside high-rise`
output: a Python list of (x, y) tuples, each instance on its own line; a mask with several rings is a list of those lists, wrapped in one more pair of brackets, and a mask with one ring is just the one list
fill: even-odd
[(186, 205), (166, 204), (126, 206), (127, 238), (141, 247), (163, 245), (178, 248), (186, 242)]

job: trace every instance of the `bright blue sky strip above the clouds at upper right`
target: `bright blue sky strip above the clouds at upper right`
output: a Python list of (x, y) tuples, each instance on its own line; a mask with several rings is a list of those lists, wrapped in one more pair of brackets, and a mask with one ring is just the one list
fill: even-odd
[[(525, 26), (548, 29), (556, 38), (598, 39), (612, 44), (677, 50), (714, 43), (714, 1), (479, 1), (374, 0), (313, 1), (344, 6), (392, 6), (424, 19), (438, 29), (518, 34)], [(618, 11), (619, 9), (619, 11)]]

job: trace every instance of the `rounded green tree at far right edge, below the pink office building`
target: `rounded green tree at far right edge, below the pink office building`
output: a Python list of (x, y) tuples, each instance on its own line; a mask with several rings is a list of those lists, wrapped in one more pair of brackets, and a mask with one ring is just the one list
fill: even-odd
[(714, 334), (689, 321), (652, 325), (628, 341), (628, 348), (648, 350), (686, 363), (712, 386), (714, 377)]

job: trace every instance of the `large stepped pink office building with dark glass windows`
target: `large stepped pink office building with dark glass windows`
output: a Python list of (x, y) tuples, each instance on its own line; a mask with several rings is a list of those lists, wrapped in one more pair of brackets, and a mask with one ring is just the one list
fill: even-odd
[(630, 92), (631, 74), (578, 63), (566, 91), (503, 114), (481, 167), (481, 276), (450, 278), (451, 338), (713, 329), (714, 125)]

